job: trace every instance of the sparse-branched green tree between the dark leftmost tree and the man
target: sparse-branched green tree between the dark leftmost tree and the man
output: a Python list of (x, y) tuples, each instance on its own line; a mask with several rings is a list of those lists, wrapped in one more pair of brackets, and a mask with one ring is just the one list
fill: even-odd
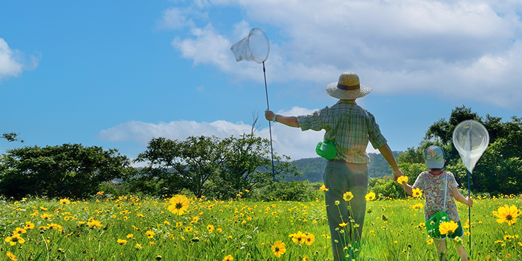
[[(233, 198), (239, 191), (269, 183), (272, 178), (269, 141), (253, 134), (231, 136), (190, 136), (186, 141), (152, 139), (135, 162), (148, 162), (142, 180), (162, 184), (161, 193), (189, 189), (195, 196)], [(297, 173), (288, 157), (278, 157), (276, 175)]]

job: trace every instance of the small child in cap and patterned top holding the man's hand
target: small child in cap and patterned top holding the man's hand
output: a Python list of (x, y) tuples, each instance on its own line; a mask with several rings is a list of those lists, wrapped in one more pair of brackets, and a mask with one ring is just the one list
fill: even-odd
[[(445, 211), (446, 214), (448, 214), (450, 221), (454, 221), (458, 224), (459, 227), (454, 233), (452, 233), (452, 235), (441, 235), (440, 238), (434, 238), (437, 247), (437, 255), (440, 257), (441, 253), (443, 253), (442, 260), (444, 261), (446, 259), (446, 236), (450, 239), (455, 239), (455, 237), (462, 237), (464, 235), (459, 212), (457, 212), (457, 205), (455, 205), (453, 198), (469, 207), (473, 205), (473, 200), (469, 197), (464, 198), (464, 196), (462, 196), (457, 190), (457, 181), (455, 181), (453, 173), (442, 170), (445, 164), (445, 154), (441, 147), (436, 145), (429, 146), (425, 151), (425, 161), (429, 171), (420, 173), (413, 184), (413, 187), (404, 183), (404, 191), (409, 195), (412, 195), (413, 188), (418, 188), (424, 191), (424, 196), (426, 198), (424, 215), (426, 220), (432, 217), (436, 212)], [(447, 189), (445, 187), (446, 184), (448, 184)], [(446, 191), (445, 209), (444, 191)], [(455, 246), (461, 260), (468, 261), (468, 253), (466, 253), (464, 246), (462, 244), (455, 244)]]

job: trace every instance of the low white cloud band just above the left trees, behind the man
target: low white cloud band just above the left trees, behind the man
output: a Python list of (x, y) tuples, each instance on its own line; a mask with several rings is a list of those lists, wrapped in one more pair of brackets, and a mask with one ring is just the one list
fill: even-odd
[[(294, 107), (290, 111), (278, 111), (278, 114), (287, 116), (298, 116), (312, 113), (315, 109)], [(260, 119), (264, 120), (264, 119)], [(271, 125), (272, 140), (274, 151), (278, 155), (287, 155), (292, 159), (302, 159), (317, 157), (315, 146), (322, 141), (324, 131), (302, 132), (299, 128), (292, 128), (278, 122)], [(109, 129), (103, 129), (97, 136), (102, 141), (109, 142), (129, 142), (134, 141), (145, 146), (152, 138), (165, 137), (172, 140), (184, 140), (189, 136), (217, 136), (221, 139), (230, 136), (239, 136), (244, 133), (251, 133), (251, 125), (243, 122), (226, 122), (216, 120), (214, 122), (195, 122), (179, 120), (173, 122), (150, 122), (131, 121), (125, 122)], [(258, 129), (255, 132), (258, 136), (269, 139), (269, 127)], [(377, 152), (371, 145), (367, 152)]]

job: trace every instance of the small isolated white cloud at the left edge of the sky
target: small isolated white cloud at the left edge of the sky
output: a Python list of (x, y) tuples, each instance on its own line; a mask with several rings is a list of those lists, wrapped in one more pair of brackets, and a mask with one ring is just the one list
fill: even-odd
[(18, 77), (24, 70), (33, 70), (38, 66), (39, 60), (39, 57), (26, 57), (17, 49), (10, 49), (7, 42), (0, 38), (0, 80)]

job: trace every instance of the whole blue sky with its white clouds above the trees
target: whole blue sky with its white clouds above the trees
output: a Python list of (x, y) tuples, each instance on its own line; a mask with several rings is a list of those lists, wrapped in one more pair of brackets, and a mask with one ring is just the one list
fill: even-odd
[[(134, 158), (152, 137), (269, 137), (262, 65), (230, 47), (252, 28), (270, 42), (270, 109), (335, 103), (326, 85), (356, 72), (392, 150), (465, 105), (522, 114), (520, 1), (2, 1), (0, 153), (81, 143)], [(274, 150), (317, 157), (322, 132), (272, 126)], [(374, 152), (371, 145), (368, 152)]]

